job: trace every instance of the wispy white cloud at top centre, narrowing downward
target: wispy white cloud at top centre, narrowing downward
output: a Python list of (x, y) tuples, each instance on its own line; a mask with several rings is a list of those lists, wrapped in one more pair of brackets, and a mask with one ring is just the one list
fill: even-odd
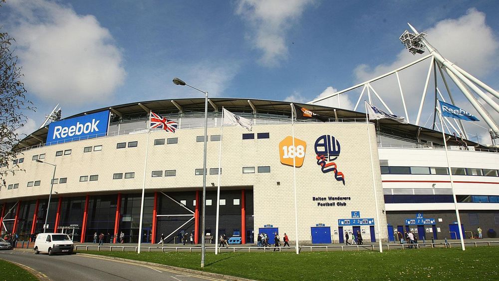
[(251, 26), (248, 36), (263, 55), (259, 63), (276, 66), (287, 58), (286, 32), (313, 0), (240, 0), (236, 13)]

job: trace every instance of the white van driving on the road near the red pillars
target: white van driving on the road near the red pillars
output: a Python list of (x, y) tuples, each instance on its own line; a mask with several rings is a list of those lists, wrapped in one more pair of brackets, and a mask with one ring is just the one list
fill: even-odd
[(52, 256), (55, 253), (73, 253), (73, 241), (67, 234), (62, 233), (40, 233), (34, 242), (34, 253), (48, 253)]

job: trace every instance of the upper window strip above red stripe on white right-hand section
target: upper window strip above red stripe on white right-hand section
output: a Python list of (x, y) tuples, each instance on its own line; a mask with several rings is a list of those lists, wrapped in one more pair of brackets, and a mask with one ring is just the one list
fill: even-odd
[[(477, 168), (451, 168), (453, 175), (497, 177), (498, 170)], [(394, 175), (449, 175), (446, 167), (381, 166), (381, 174)]]

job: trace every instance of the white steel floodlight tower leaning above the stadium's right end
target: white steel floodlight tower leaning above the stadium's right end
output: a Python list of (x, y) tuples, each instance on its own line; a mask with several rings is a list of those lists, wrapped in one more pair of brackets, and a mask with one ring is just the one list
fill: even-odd
[[(409, 23), (407, 23), (409, 24)], [(409, 27), (414, 33), (405, 30), (404, 33), (400, 36), (400, 40), (403, 44), (406, 45), (407, 49), (413, 53), (423, 53), (424, 47), (428, 49), (428, 51), (433, 55), (433, 58), (437, 62), (438, 66), (442, 68), (452, 79), (452, 81), (458, 86), (458, 88), (463, 92), (465, 97), (470, 101), (473, 107), (477, 110), (478, 114), (482, 117), (482, 119), (487, 123), (487, 125), (492, 129), (493, 138), (499, 138), (499, 126), (492, 119), (492, 116), (487, 112), (487, 110), (480, 104), (477, 98), (472, 94), (471, 91), (475, 92), (478, 96), (480, 96), (488, 105), (490, 105), (494, 110), (499, 113), (499, 104), (495, 102), (491, 97), (489, 97), (486, 93), (479, 88), (482, 87), (484, 90), (499, 98), (499, 93), (486, 85), (470, 73), (458, 67), (453, 62), (446, 59), (440, 52), (433, 47), (428, 40), (425, 38), (425, 33), (419, 33), (416, 28), (414, 28), (411, 24)], [(452, 97), (451, 97), (452, 99)], [(454, 104), (454, 101), (453, 101)], [(419, 120), (417, 120), (416, 125), (418, 125)], [(492, 134), (491, 134), (492, 135)]]

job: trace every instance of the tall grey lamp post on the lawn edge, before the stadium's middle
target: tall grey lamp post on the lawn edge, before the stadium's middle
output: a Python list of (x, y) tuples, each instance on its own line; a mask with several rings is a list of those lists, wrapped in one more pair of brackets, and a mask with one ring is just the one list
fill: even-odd
[[(208, 140), (208, 92), (202, 91), (198, 88), (195, 88), (186, 82), (182, 81), (181, 79), (175, 77), (173, 78), (173, 83), (175, 85), (181, 85), (181, 86), (189, 86), (195, 90), (198, 90), (202, 93), (205, 94), (205, 150), (203, 153), (203, 211), (202, 211), (202, 235), (201, 235), (201, 268), (205, 267), (205, 254), (206, 254), (206, 248), (205, 248), (205, 211), (206, 211), (206, 145), (207, 145), (207, 140)], [(219, 204), (217, 202), (217, 204)]]

